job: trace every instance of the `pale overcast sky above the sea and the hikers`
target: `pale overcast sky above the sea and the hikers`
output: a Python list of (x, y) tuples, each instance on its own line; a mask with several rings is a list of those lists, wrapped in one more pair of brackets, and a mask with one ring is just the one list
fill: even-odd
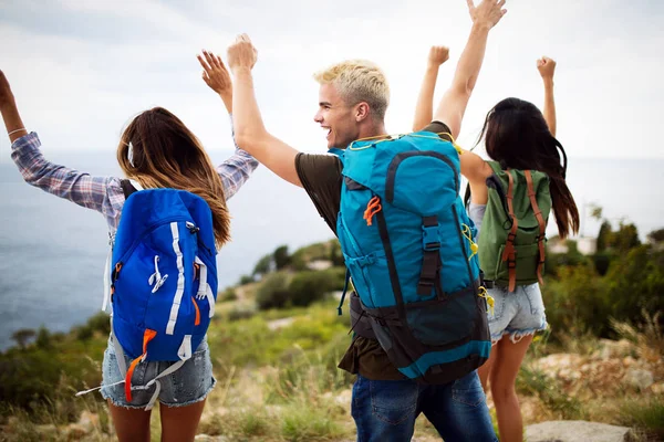
[[(474, 143), (499, 99), (541, 105), (536, 59), (548, 55), (558, 61), (558, 138), (570, 156), (664, 158), (664, 2), (508, 0), (507, 9), (490, 33), (461, 145)], [(268, 128), (322, 152), (313, 72), (350, 57), (376, 62), (392, 88), (387, 129), (406, 131), (428, 48), (450, 48), (438, 98), (469, 29), (464, 0), (0, 0), (0, 69), (46, 152), (114, 150), (129, 118), (155, 105), (208, 149), (228, 149), (224, 106), (195, 55), (208, 49), (226, 57), (247, 32), (259, 50), (256, 87)], [(0, 158), (8, 157), (0, 137)]]

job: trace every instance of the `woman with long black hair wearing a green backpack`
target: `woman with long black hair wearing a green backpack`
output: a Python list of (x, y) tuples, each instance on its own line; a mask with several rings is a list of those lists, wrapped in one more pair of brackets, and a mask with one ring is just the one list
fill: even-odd
[[(432, 55), (443, 50), (445, 56), (439, 57), (440, 63), (447, 57), (447, 50), (432, 48)], [(490, 161), (459, 148), (460, 172), (470, 187), (467, 207), (477, 229), (480, 266), (485, 276), (499, 276), (496, 281), (485, 281), (492, 348), (478, 373), (485, 390), (487, 382), (490, 385), (502, 442), (522, 441), (523, 423), (515, 381), (533, 334), (547, 328), (539, 283), (549, 211), (553, 211), (560, 238), (579, 230), (579, 211), (566, 182), (567, 155), (556, 138), (556, 62), (542, 57), (537, 67), (544, 83), (543, 114), (532, 103), (506, 98), (489, 110), (479, 136)], [(479, 72), (479, 66), (475, 65), (475, 70)], [(432, 118), (436, 74), (437, 65), (432, 69), (429, 62), (417, 101), (414, 130), (421, 130)], [(436, 131), (454, 136), (459, 133), (476, 81), (477, 74), (456, 88), (453, 82), (434, 115)], [(438, 117), (445, 110), (447, 120)], [(449, 115), (456, 115), (456, 120)], [(485, 213), (488, 219), (483, 228)]]

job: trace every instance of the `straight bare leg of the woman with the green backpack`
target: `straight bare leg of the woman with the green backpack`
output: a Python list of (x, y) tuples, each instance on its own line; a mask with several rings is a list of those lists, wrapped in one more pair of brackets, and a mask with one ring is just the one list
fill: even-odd
[(525, 336), (517, 344), (505, 336), (491, 351), (496, 354), (496, 359), (491, 367), (489, 382), (496, 406), (500, 442), (521, 442), (523, 440), (523, 420), (515, 382), (531, 341), (532, 336)]

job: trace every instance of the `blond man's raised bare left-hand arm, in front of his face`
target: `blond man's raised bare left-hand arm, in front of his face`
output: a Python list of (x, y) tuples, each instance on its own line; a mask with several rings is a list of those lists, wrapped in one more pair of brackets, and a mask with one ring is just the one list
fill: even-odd
[(251, 76), (256, 54), (246, 34), (238, 36), (228, 48), (228, 64), (235, 77), (232, 109), (236, 143), (279, 177), (302, 187), (295, 170), (299, 151), (272, 136), (263, 125)]

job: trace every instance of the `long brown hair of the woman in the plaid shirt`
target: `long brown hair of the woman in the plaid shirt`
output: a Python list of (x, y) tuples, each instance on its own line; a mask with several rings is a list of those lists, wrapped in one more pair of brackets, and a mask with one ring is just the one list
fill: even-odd
[(196, 136), (163, 107), (136, 116), (122, 134), (117, 162), (128, 178), (145, 188), (188, 190), (212, 212), (215, 242), (230, 239), (230, 214), (221, 178)]

